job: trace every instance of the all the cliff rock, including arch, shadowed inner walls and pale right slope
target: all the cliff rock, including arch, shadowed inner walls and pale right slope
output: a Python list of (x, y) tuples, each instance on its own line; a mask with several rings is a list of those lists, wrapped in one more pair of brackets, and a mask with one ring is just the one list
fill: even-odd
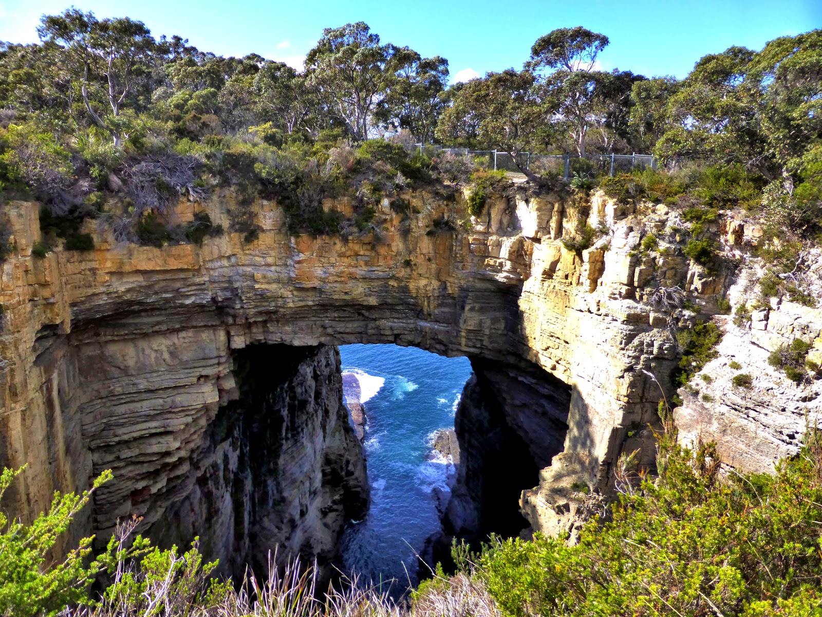
[[(4, 506), (30, 519), (54, 490), (110, 468), (67, 542), (104, 542), (136, 515), (162, 544), (200, 536), (229, 572), (265, 564), (275, 544), (330, 564), (368, 500), (335, 346), (395, 343), (472, 362), (446, 532), (573, 531), (590, 507), (579, 488), (607, 493), (622, 452), (653, 465), (648, 427), (674, 394), (677, 327), (702, 313), (731, 331), (718, 299), (744, 298), (750, 281), (684, 257), (675, 229), (686, 224), (667, 206), (520, 186), (469, 217), (464, 197), (408, 192), (411, 214), (386, 200), (381, 231), (347, 239), (289, 236), (266, 201), (249, 206), (261, 227), (251, 243), (118, 245), (104, 219), (86, 220), (94, 250), (42, 259), (31, 254), (39, 206), (4, 204), (16, 253), (0, 264), (0, 463), (26, 465)], [(229, 229), (236, 207), (219, 191), (167, 217), (202, 211)], [(433, 225), (446, 219), (457, 224)], [(569, 250), (561, 240), (582, 225), (600, 236)], [(744, 261), (755, 229), (710, 225)], [(641, 251), (651, 233), (671, 250)], [(675, 288), (695, 312), (653, 302)], [(733, 360), (760, 375), (762, 354), (797, 336), (822, 349), (820, 328), (819, 310), (774, 305), (723, 339), (706, 370)], [(820, 382), (799, 389), (766, 370), (738, 392), (729, 378), (713, 381), (713, 406), (684, 392), (677, 423), (685, 438), (717, 440), (728, 465), (767, 470), (796, 451)]]

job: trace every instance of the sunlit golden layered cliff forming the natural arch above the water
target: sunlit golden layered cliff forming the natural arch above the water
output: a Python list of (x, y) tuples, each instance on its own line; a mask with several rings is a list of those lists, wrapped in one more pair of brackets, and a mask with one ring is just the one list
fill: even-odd
[[(466, 476), (455, 493), (486, 499), (469, 470), (484, 465), (471, 462), (479, 428), (496, 423), (529, 456), (538, 485), (521, 505), (534, 529), (556, 525), (565, 508), (552, 496), (557, 478), (606, 489), (621, 452), (639, 449), (641, 462), (653, 462), (643, 427), (657, 422), (663, 393), (672, 396), (665, 377), (677, 362), (677, 324), (662, 291), (716, 313), (732, 284), (727, 272), (681, 256), (676, 229), (686, 223), (677, 212), (601, 193), (517, 189), (471, 219), (459, 192), (404, 197), (413, 214), (390, 211), (386, 200), (380, 234), (289, 237), (279, 206), (262, 201), (251, 206), (262, 229), (251, 244), (225, 234), (201, 246), (118, 246), (102, 219), (86, 222), (94, 251), (44, 259), (31, 256), (37, 206), (3, 205), (17, 253), (0, 265), (0, 463), (29, 464), (12, 508), (30, 516), (54, 489), (82, 488), (113, 467), (118, 480), (81, 531), (109, 530), (130, 513), (182, 513), (175, 508), (184, 503), (198, 512), (196, 479), (213, 474), (196, 471), (211, 465), (196, 452), (230, 441), (219, 421), (238, 397), (233, 354), (264, 343), (397, 343), (468, 355), (476, 380), (467, 394), (487, 394), (475, 412), (459, 412)], [(181, 203), (170, 219), (206, 211), (228, 229), (236, 206), (218, 192)], [(352, 207), (347, 198), (324, 206)], [(455, 229), (434, 229), (441, 217)], [(585, 223), (604, 233), (568, 250), (561, 240)], [(650, 233), (661, 239), (658, 252), (640, 249)], [(231, 508), (222, 512), (236, 519)]]

